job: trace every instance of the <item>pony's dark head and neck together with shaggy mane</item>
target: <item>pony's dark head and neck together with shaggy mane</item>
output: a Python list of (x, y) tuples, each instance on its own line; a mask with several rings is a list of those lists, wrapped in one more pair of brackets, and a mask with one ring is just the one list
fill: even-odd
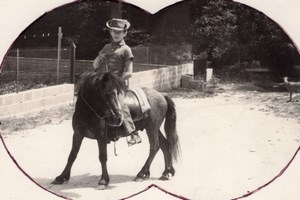
[[(78, 82), (78, 97), (98, 118), (104, 118), (110, 126), (121, 126), (124, 86), (120, 78), (112, 73), (85, 72)], [(85, 108), (85, 107), (84, 107)]]

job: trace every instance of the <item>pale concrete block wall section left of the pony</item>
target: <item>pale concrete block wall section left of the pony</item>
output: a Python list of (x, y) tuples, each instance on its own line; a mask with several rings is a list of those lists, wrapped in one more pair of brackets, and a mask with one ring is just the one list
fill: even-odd
[(63, 84), (0, 95), (0, 117), (14, 117), (72, 103), (74, 85)]

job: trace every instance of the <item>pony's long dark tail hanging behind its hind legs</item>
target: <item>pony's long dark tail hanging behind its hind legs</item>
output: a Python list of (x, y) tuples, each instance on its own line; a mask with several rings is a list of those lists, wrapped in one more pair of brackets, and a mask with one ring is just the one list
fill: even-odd
[(180, 143), (177, 135), (176, 130), (176, 109), (175, 109), (175, 103), (169, 96), (165, 96), (165, 99), (168, 104), (168, 110), (166, 114), (166, 120), (165, 120), (165, 133), (167, 140), (169, 141), (169, 150), (172, 155), (172, 159), (174, 161), (178, 161), (180, 158)]

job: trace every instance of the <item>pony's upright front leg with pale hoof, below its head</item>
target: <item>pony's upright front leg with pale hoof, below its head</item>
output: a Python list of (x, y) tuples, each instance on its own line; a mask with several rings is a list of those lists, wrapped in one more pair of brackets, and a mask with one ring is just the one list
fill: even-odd
[(97, 139), (98, 142), (98, 148), (99, 148), (99, 160), (102, 167), (102, 175), (101, 179), (98, 183), (98, 186), (96, 189), (104, 190), (109, 184), (109, 175), (107, 172), (107, 143), (104, 139), (100, 138)]

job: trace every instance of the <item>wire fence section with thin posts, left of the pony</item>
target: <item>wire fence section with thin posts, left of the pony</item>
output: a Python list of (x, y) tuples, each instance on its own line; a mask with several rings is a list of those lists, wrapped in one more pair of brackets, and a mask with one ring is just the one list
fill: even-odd
[(70, 48), (60, 52), (57, 48), (9, 51), (0, 74), (0, 94), (68, 82), (70, 58)]

